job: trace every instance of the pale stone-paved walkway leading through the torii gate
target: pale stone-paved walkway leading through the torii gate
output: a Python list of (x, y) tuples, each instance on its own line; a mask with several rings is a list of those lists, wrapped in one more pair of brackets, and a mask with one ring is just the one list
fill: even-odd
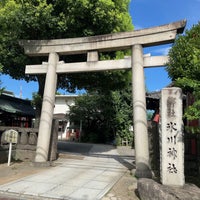
[(108, 145), (93, 145), (87, 156), (59, 158), (56, 167), (0, 186), (16, 199), (98, 200), (127, 171), (127, 162)]

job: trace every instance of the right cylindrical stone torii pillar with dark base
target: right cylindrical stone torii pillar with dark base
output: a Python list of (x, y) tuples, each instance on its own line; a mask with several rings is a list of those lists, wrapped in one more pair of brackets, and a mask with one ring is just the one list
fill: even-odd
[(137, 166), (135, 176), (151, 178), (142, 45), (132, 46), (131, 58), (135, 161)]

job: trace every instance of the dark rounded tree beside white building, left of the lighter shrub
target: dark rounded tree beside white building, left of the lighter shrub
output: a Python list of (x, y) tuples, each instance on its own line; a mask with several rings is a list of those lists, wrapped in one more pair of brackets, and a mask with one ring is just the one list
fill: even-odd
[(82, 120), (82, 141), (105, 142), (113, 139), (113, 133), (107, 132), (112, 127), (111, 108), (109, 98), (104, 95), (93, 93), (76, 99), (75, 106), (70, 108), (69, 118), (77, 123)]

